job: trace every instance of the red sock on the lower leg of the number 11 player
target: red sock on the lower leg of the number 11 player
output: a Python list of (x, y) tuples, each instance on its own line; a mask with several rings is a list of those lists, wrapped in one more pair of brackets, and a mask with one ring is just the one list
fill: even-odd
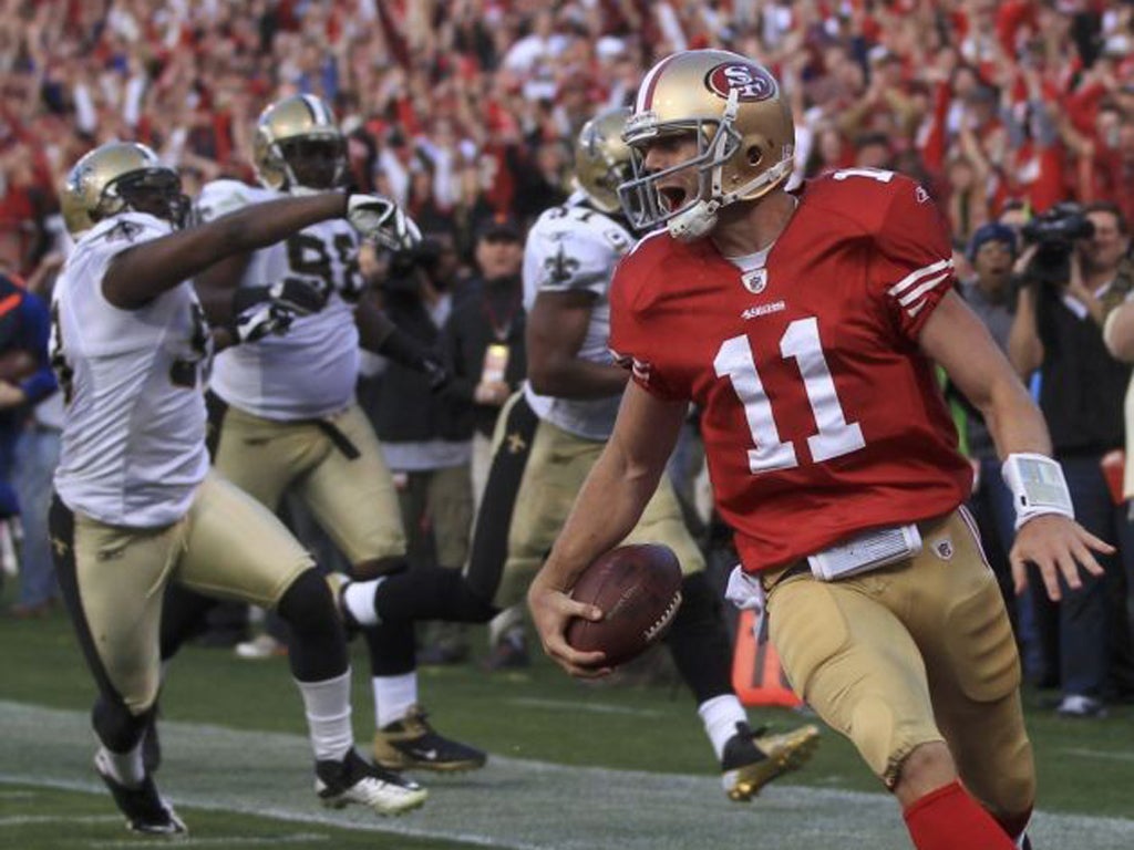
[(903, 817), (917, 850), (1015, 850), (1000, 825), (959, 782), (914, 800)]

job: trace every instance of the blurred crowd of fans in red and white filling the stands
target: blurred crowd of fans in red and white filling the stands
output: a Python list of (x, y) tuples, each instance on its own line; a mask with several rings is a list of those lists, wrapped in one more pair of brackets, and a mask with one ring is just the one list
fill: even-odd
[(1134, 6), (1101, 0), (0, 0), (0, 257), (31, 273), (81, 153), (145, 142), (253, 177), (268, 102), (310, 92), (356, 184), (469, 247), (568, 190), (569, 144), (658, 57), (723, 46), (790, 92), (798, 176), (921, 177), (957, 246), (1006, 203), (1134, 213)]

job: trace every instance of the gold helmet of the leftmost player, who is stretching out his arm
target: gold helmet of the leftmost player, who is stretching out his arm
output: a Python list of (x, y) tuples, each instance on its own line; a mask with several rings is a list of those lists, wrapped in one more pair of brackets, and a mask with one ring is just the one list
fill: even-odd
[(67, 173), (59, 204), (71, 236), (124, 210), (180, 227), (189, 209), (181, 178), (136, 142), (110, 142), (87, 152)]

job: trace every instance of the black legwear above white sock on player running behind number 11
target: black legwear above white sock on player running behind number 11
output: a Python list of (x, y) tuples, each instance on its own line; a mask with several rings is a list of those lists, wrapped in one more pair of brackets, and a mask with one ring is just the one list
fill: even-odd
[(666, 636), (682, 679), (697, 704), (733, 692), (733, 648), (721, 603), (704, 572), (682, 581), (682, 606)]

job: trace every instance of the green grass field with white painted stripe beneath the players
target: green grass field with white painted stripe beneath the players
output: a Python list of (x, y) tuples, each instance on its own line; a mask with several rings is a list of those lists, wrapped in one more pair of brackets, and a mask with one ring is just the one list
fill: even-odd
[[(0, 848), (164, 843), (122, 828), (91, 768), (94, 690), (66, 618), (0, 618)], [(365, 742), (372, 704), (355, 652), (355, 729)], [(425, 808), (383, 821), (318, 805), (285, 660), (186, 651), (162, 700), (161, 785), (192, 833), (179, 845), (908, 847), (897, 806), (830, 731), (805, 771), (742, 806), (720, 791), (692, 699), (676, 686), (584, 685), (542, 658), (522, 673), (465, 665), (424, 669), (421, 679), (438, 728), (491, 759), (476, 773), (418, 776), (431, 790)], [(1069, 721), (1040, 707), (1049, 696), (1025, 695), (1040, 770), (1036, 850), (1134, 847), (1134, 706)], [(780, 728), (802, 722), (780, 709), (751, 715)]]

